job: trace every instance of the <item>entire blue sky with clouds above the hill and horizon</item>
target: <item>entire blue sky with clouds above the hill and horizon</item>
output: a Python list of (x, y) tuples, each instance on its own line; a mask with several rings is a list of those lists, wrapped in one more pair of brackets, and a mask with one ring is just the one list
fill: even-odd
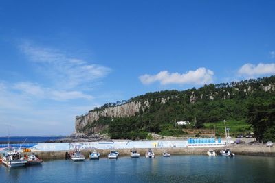
[(95, 106), (275, 74), (275, 1), (0, 1), (0, 136)]

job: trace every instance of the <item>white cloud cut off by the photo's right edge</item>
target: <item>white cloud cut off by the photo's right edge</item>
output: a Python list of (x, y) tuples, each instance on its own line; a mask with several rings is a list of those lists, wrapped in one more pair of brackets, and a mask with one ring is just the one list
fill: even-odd
[(244, 64), (238, 71), (239, 75), (245, 77), (257, 77), (260, 75), (275, 74), (275, 64)]

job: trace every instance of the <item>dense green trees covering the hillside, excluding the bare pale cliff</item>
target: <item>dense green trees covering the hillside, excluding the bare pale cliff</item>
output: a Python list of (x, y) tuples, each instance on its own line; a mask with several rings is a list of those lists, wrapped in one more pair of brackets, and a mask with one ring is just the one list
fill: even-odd
[(131, 101), (143, 104), (148, 101), (149, 107), (144, 104), (134, 117), (107, 120), (111, 138), (146, 138), (148, 132), (180, 136), (184, 134), (183, 126), (176, 126), (176, 121), (190, 121), (191, 127), (201, 128), (205, 123), (226, 119), (249, 121), (261, 141), (273, 138), (270, 134), (275, 130), (274, 103), (270, 103), (275, 94), (274, 84), (275, 76), (272, 76), (230, 84), (208, 84), (184, 91), (159, 91), (129, 101), (109, 103), (95, 110)]

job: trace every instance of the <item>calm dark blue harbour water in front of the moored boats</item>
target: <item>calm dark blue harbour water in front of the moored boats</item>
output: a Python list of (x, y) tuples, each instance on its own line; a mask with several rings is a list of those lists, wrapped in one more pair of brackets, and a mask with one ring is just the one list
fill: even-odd
[(0, 166), (0, 182), (274, 182), (275, 158), (261, 156), (119, 157)]

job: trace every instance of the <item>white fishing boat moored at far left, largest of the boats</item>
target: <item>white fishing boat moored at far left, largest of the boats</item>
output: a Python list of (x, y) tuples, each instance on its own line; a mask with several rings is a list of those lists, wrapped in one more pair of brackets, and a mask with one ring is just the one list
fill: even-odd
[(27, 164), (27, 160), (25, 160), (20, 152), (15, 149), (5, 152), (5, 154), (3, 154), (2, 162), (7, 167), (23, 167)]

